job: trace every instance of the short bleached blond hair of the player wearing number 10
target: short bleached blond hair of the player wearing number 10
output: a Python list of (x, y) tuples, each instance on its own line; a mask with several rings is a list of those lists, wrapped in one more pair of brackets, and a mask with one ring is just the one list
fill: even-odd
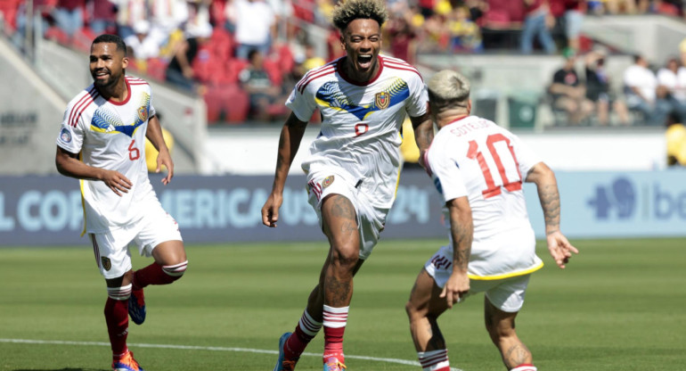
[(439, 111), (465, 108), (470, 99), (470, 80), (454, 70), (441, 70), (427, 84), (429, 103)]

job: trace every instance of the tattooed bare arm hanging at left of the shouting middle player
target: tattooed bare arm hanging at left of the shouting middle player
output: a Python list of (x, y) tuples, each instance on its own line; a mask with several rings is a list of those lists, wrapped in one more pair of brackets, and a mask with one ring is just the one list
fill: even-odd
[(283, 202), (283, 186), (286, 184), (290, 164), (298, 153), (300, 141), (305, 135), (306, 126), (307, 123), (298, 120), (298, 117), (292, 112), (286, 123), (283, 124), (279, 137), (279, 152), (276, 156), (272, 193), (269, 194), (265, 205), (262, 207), (262, 223), (267, 227), (276, 227), (276, 222), (279, 220), (279, 208)]

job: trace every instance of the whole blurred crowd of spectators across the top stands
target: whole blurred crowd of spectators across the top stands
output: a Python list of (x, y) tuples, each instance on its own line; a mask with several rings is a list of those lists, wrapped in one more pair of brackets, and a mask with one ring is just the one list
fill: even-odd
[[(130, 73), (202, 95), (210, 123), (239, 123), (282, 120), (287, 113), (283, 102), (306, 70), (344, 54), (339, 32), (331, 26), (337, 3), (33, 0), (28, 9), (25, 0), (0, 0), (0, 15), (4, 32), (19, 47), (26, 45), (29, 32), (38, 29), (45, 38), (84, 51), (95, 36), (116, 33), (130, 48)], [(657, 75), (637, 59), (627, 70), (627, 89), (620, 98), (609, 90), (603, 70), (607, 55), (592, 51), (580, 35), (588, 16), (683, 17), (682, 0), (388, 0), (387, 4), (385, 53), (411, 63), (418, 53), (475, 54), (503, 48), (563, 55), (567, 62), (555, 74), (549, 93), (553, 110), (567, 114), (572, 123), (584, 123), (591, 116), (605, 125), (610, 116), (629, 123), (634, 113), (650, 122), (673, 111), (686, 115), (686, 92), (681, 90), (686, 87), (686, 80), (682, 81), (686, 72), (680, 58), (666, 63)], [(325, 48), (309, 39), (306, 29), (312, 24), (326, 33)], [(584, 78), (574, 70), (579, 51), (584, 51)], [(650, 74), (655, 76), (649, 78)], [(649, 80), (655, 87), (649, 87)]]

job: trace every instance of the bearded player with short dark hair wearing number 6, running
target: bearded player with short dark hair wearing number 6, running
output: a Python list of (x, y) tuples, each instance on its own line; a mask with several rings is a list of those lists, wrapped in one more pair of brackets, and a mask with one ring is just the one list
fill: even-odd
[[(126, 51), (118, 36), (94, 39), (89, 57), (94, 84), (69, 102), (55, 155), (62, 175), (81, 179), (84, 233), (107, 284), (104, 314), (115, 371), (143, 370), (127, 348), (128, 316), (138, 325), (145, 320), (143, 288), (171, 284), (188, 264), (176, 220), (162, 209), (148, 179), (145, 138), (159, 151), (157, 170), (167, 167), (164, 185), (174, 176), (174, 163), (155, 117), (151, 87), (126, 76)], [(134, 271), (129, 245), (155, 261)]]

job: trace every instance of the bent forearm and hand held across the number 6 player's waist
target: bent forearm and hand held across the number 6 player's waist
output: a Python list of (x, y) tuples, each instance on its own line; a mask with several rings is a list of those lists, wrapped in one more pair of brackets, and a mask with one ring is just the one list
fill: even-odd
[(59, 145), (57, 146), (57, 153), (55, 153), (55, 166), (57, 166), (57, 171), (63, 176), (86, 180), (102, 180), (118, 196), (126, 194), (133, 186), (133, 183), (118, 171), (88, 166), (78, 160), (78, 153), (69, 153)]

